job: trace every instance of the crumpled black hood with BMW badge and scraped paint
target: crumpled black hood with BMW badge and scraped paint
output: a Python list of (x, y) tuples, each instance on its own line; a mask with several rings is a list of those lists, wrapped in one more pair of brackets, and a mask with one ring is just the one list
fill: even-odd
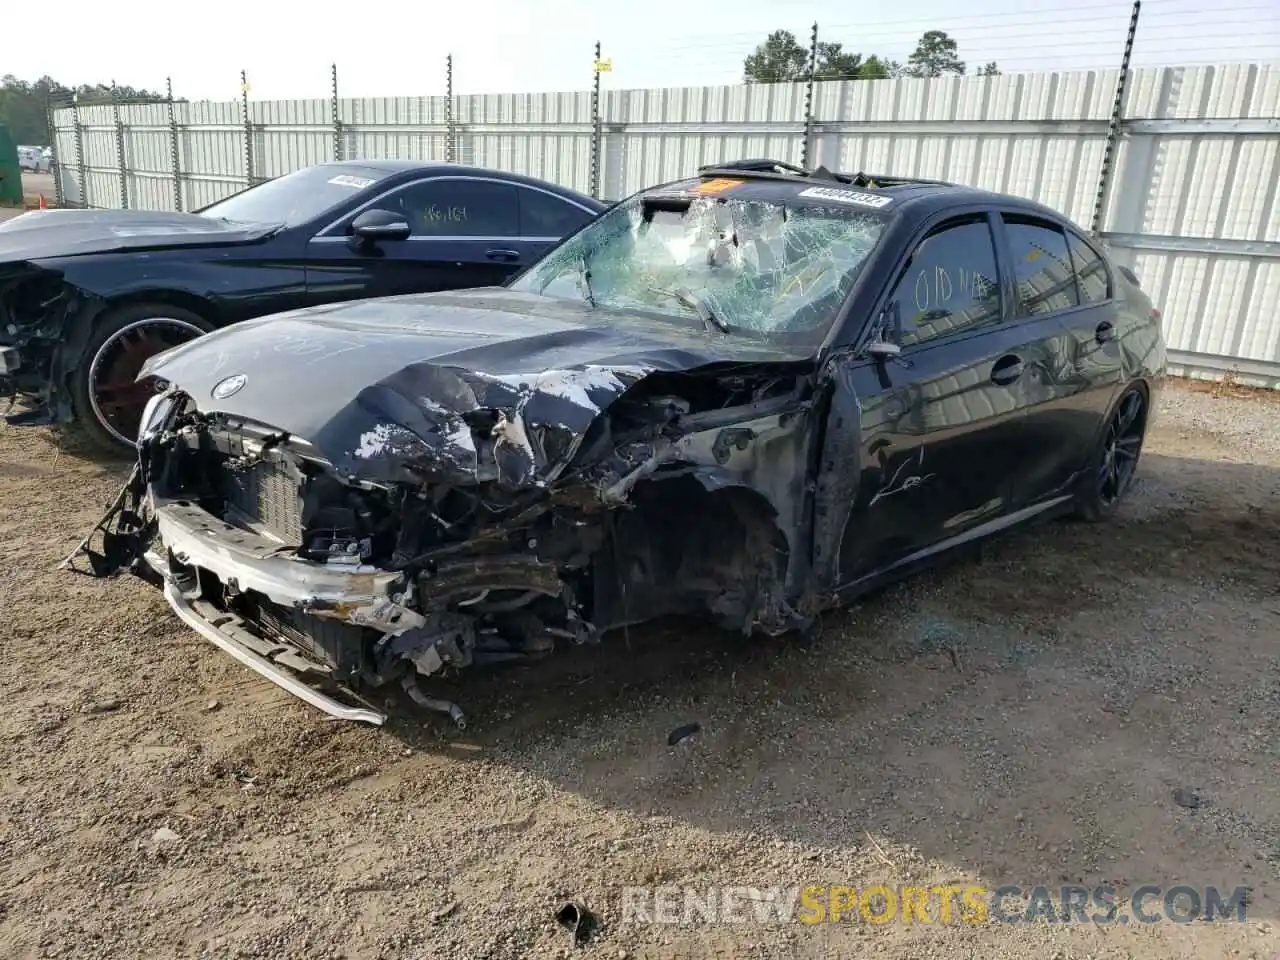
[(553, 480), (596, 416), (649, 374), (804, 362), (696, 320), (492, 288), (234, 324), (152, 357), (140, 376), (306, 440), (355, 479), (404, 480), (408, 468), (465, 483), (485, 462), (527, 485)]

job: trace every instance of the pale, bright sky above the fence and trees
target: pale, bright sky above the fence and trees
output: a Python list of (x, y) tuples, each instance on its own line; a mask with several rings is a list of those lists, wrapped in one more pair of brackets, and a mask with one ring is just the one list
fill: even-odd
[[(996, 60), (1005, 72), (1119, 64), (1126, 0), (485, 0), (349, 4), (335, 0), (63, 0), (59, 37), (45, 33), (6, 50), (0, 70), (64, 83), (116, 79), (193, 100), (239, 96), (248, 70), (253, 99), (328, 96), (337, 61), (344, 96), (444, 92), (453, 54), (460, 93), (585, 90), (599, 40), (613, 63), (607, 87), (735, 83), (742, 58), (773, 29), (806, 41), (905, 60), (925, 29), (947, 31), (970, 70)], [(305, 12), (305, 13), (303, 13)], [(1135, 47), (1144, 64), (1280, 63), (1280, 0), (1147, 0)]]

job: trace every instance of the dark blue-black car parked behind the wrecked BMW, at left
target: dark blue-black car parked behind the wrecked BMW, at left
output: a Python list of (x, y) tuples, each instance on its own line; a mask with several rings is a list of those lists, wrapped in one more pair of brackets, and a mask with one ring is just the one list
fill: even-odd
[(457, 164), (358, 160), (191, 214), (49, 210), (0, 224), (0, 397), (129, 452), (151, 356), (314, 303), (500, 284), (605, 205)]

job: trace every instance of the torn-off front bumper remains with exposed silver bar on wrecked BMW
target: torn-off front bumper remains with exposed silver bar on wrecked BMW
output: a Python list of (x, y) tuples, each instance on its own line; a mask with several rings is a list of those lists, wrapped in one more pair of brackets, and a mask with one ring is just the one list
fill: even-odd
[[(145, 424), (163, 420), (166, 406), (154, 404)], [(145, 426), (143, 448), (155, 433), (154, 426)], [(101, 552), (90, 547), (95, 534), (102, 535)], [(141, 467), (64, 566), (74, 570), (81, 556), (88, 557), (93, 576), (129, 570), (160, 586), (183, 623), (262, 678), (337, 719), (385, 723), (385, 712), (351, 703), (360, 699), (353, 689), (361, 681), (383, 686), (396, 680), (419, 707), (447, 714), (465, 728), (462, 709), (426, 695), (419, 678), (445, 667), (522, 659), (530, 653), (509, 645), (485, 649), (474, 636), (462, 643), (467, 631), (444, 604), (417, 603), (429, 616), (410, 605), (415, 595), (411, 576), (300, 558), (296, 548), (271, 536), (225, 522), (189, 500), (160, 495)], [(458, 559), (439, 564), (436, 584), (445, 594), (462, 591), (483, 599), (490, 590), (536, 580), (536, 571), (530, 573), (532, 566), (503, 558)], [(558, 589), (552, 577), (544, 575), (544, 580), (548, 591)], [(256, 616), (238, 609), (241, 598), (252, 598)], [(264, 616), (268, 612), (274, 614)], [(291, 614), (306, 626), (292, 636), (276, 632)], [(325, 636), (335, 641), (325, 645)], [(335, 681), (340, 692), (328, 692), (315, 680)]]

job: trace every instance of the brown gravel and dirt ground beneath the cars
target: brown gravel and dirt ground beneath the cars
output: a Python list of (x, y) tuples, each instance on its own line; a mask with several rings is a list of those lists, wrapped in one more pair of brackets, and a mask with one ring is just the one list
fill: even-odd
[[(1007, 536), (809, 644), (671, 625), (472, 678), (465, 733), (330, 722), (141, 582), (55, 571), (122, 476), (0, 428), (0, 956), (1280, 951), (1276, 396), (1167, 389), (1111, 524)], [(1247, 919), (664, 925), (620, 895), (1075, 882), (1243, 886)], [(580, 948), (564, 897), (599, 918)]]

